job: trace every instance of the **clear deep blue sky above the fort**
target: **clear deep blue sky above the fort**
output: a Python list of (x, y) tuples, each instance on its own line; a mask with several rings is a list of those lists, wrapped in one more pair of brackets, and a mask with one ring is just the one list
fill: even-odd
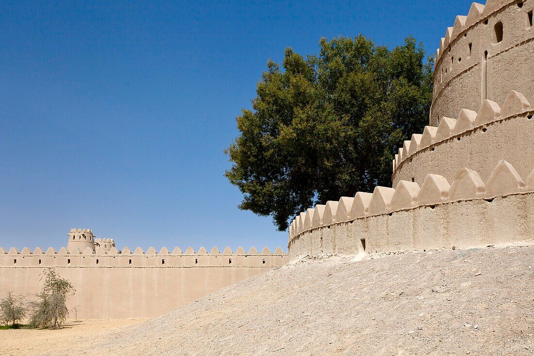
[(268, 58), (362, 33), (434, 54), (468, 1), (0, 3), (0, 246), (286, 250), (223, 176)]

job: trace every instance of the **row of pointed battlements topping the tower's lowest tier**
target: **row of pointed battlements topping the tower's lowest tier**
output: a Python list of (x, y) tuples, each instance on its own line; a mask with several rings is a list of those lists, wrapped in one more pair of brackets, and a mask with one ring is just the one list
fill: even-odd
[[(331, 212), (327, 213), (326, 208), (309, 209), (306, 214), (312, 211), (317, 216), (316, 221), (320, 221), (320, 225), (309, 226), (308, 228), (304, 225), (302, 230), (292, 230), (294, 232), (291, 233), (289, 241), (307, 231), (317, 230), (336, 223), (367, 219), (379, 215), (391, 216), (394, 213), (425, 206), (434, 207), (440, 204), (474, 199), (487, 200), (510, 195), (531, 195), (534, 193), (534, 169), (531, 169), (530, 172), (528, 177), (525, 176), (522, 179), (509, 162), (501, 160), (493, 168), (486, 183), (473, 169), (462, 168), (450, 184), (441, 175), (429, 174), (421, 187), (416, 182), (400, 181), (396, 189), (375, 187), (372, 194), (357, 192), (354, 198), (342, 197), (339, 202), (336, 202), (337, 204), (329, 204), (345, 206), (344, 211), (346, 212), (348, 203), (351, 202), (350, 215), (342, 215), (337, 221), (337, 215), (333, 215)], [(298, 225), (299, 220), (301, 220), (301, 215), (292, 222), (292, 225)]]

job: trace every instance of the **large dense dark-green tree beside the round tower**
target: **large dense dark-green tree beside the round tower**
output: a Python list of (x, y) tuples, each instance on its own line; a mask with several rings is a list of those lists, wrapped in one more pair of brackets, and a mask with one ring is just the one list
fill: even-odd
[(253, 110), (225, 150), (239, 208), (280, 231), (315, 204), (390, 185), (395, 151), (428, 122), (431, 58), (413, 37), (389, 50), (366, 37), (321, 38), (318, 55), (269, 61)]

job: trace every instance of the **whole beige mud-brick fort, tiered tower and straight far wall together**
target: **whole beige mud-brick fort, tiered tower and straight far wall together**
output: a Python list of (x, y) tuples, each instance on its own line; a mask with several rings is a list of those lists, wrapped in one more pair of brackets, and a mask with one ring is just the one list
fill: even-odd
[(0, 248), (0, 295), (35, 293), (44, 267), (81, 318), (158, 316), (309, 255), (468, 248), (534, 238), (534, 1), (489, 0), (439, 43), (429, 126), (392, 161), (392, 187), (316, 205), (290, 224), (288, 256), (241, 247), (116, 249), (72, 229), (66, 247)]

